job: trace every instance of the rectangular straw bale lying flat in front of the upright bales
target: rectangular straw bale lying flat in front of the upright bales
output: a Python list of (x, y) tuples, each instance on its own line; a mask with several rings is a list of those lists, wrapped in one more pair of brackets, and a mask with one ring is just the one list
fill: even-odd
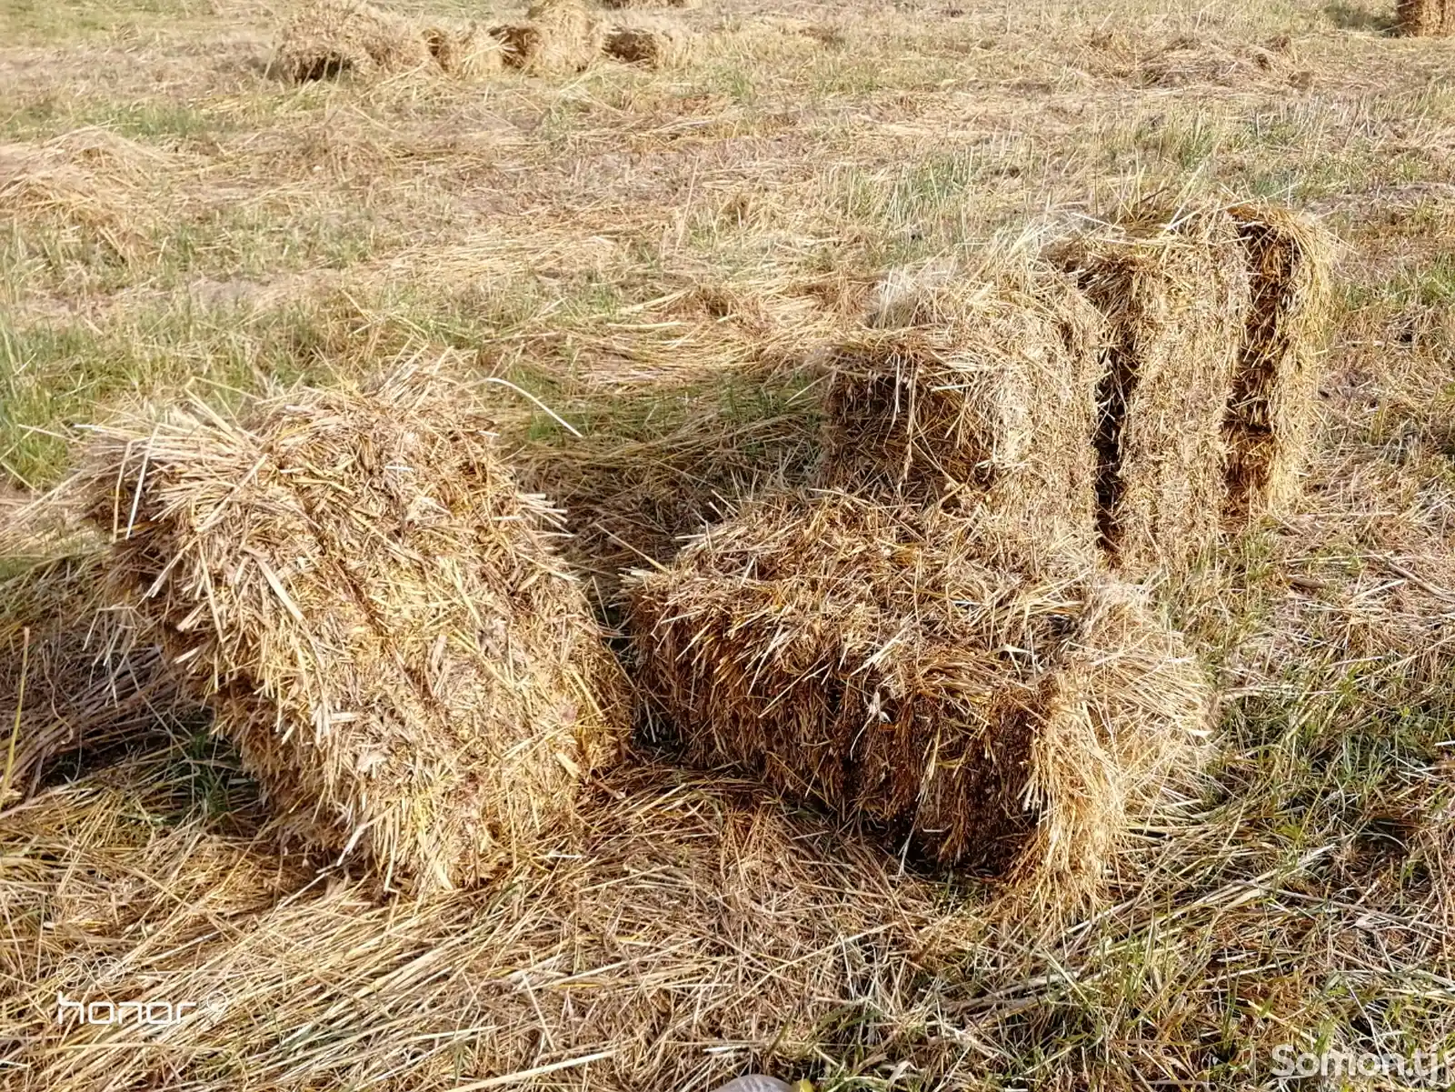
[(1208, 686), (1131, 588), (984, 521), (786, 495), (630, 600), (639, 683), (694, 764), (1077, 903), (1195, 769)]

